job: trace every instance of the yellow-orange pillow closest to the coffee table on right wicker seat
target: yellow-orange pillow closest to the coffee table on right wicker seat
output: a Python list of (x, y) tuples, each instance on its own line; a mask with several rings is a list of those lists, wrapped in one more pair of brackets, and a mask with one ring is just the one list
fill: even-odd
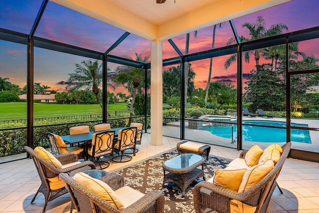
[(216, 170), (213, 184), (238, 192), (243, 176), (247, 169), (221, 169)]

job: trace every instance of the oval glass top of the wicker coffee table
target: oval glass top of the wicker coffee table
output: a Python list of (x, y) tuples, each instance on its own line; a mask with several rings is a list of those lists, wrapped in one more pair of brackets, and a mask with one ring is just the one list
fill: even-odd
[(172, 169), (185, 169), (202, 159), (196, 154), (181, 154), (164, 162), (165, 166)]

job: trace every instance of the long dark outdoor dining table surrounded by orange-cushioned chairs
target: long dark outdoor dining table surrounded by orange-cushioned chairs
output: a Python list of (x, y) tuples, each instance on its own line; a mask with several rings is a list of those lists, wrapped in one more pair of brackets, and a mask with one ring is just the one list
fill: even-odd
[[(118, 128), (112, 128), (108, 130), (103, 130), (103, 131), (115, 131), (115, 136), (117, 137), (119, 134), (120, 129), (124, 129), (127, 127), (118, 127)], [(92, 131), (92, 132), (87, 132), (87, 133), (81, 133), (81, 134), (72, 134), (72, 135), (64, 135), (61, 136), (62, 139), (66, 142), (71, 144), (73, 146), (74, 144), (79, 144), (79, 143), (84, 143), (84, 159), (88, 160), (88, 144), (92, 142), (93, 134), (98, 133), (102, 131)]]

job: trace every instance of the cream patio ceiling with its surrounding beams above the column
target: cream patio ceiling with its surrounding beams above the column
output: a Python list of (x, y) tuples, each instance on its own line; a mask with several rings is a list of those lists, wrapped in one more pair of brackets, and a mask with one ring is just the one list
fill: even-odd
[(51, 1), (148, 40), (166, 40), (290, 0)]

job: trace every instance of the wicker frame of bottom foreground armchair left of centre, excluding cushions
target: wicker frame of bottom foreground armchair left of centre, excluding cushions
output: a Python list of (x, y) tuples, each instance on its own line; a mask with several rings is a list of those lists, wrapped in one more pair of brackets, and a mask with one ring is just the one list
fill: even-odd
[[(151, 191), (143, 198), (139, 199), (134, 204), (126, 209), (119, 211), (111, 204), (103, 200), (100, 196), (75, 181), (70, 176), (61, 173), (59, 177), (66, 183), (67, 188), (75, 193), (71, 195), (76, 202), (75, 205), (80, 213), (163, 213), (164, 212), (164, 196), (159, 191)], [(101, 179), (108, 184), (112, 190), (117, 190), (124, 186), (124, 179), (118, 174), (110, 173)], [(72, 199), (72, 200), (73, 200)], [(94, 204), (94, 211), (92, 210), (91, 202)]]

